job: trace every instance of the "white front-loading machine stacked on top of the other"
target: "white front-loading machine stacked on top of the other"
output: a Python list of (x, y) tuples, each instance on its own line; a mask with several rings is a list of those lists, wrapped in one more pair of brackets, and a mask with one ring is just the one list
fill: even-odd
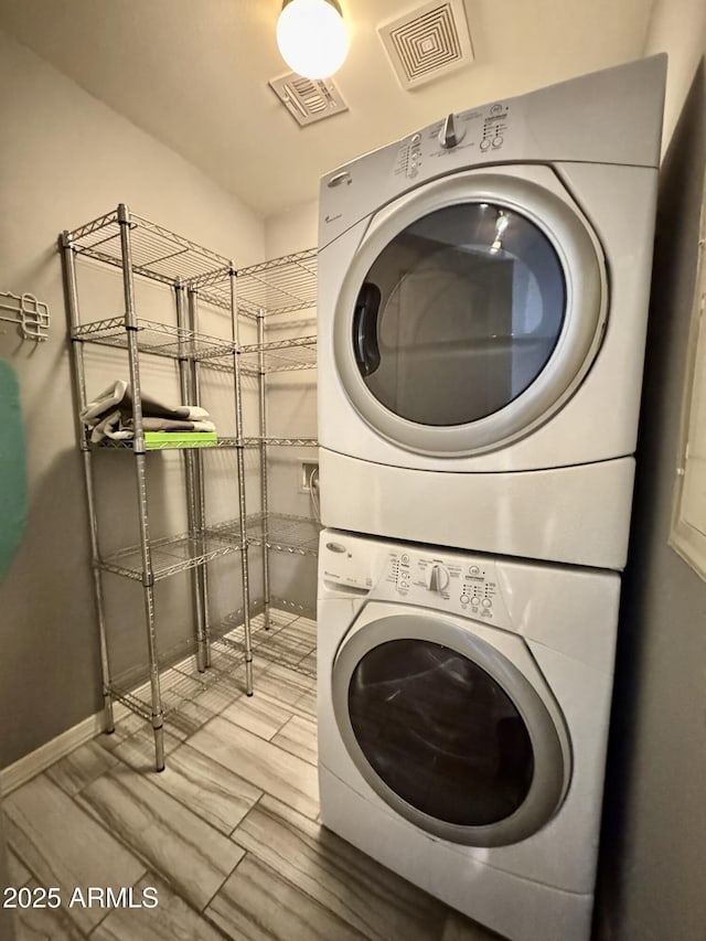
[(322, 180), (325, 525), (624, 565), (665, 66), (449, 115)]

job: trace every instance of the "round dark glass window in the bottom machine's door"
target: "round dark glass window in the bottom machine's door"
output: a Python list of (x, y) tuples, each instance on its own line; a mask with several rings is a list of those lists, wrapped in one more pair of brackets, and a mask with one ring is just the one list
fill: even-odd
[(429, 641), (376, 646), (349, 685), (361, 751), (411, 806), (459, 826), (513, 814), (532, 784), (532, 741), (501, 686), (478, 664)]

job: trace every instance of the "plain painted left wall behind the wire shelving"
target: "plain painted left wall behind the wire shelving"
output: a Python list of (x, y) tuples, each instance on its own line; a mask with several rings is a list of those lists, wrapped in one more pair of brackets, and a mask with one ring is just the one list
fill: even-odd
[[(52, 313), (51, 338), (36, 347), (10, 324), (0, 325), (0, 355), (20, 376), (30, 484), (24, 543), (0, 587), (0, 764), (8, 764), (101, 703), (58, 233), (127, 202), (138, 214), (236, 265), (266, 255), (264, 224), (249, 208), (2, 32), (0, 88), (0, 290), (30, 291), (46, 301)], [(120, 312), (95, 308), (98, 297), (98, 289), (92, 289), (84, 319)], [(116, 367), (103, 347), (88, 349), (96, 391), (103, 377), (114, 377)], [(173, 366), (165, 363), (150, 366), (150, 388), (157, 392), (162, 381), (174, 386)], [(133, 475), (128, 455), (99, 457), (98, 477), (109, 483), (101, 490), (101, 530), (109, 538), (126, 517), (130, 523), (135, 518)], [(150, 461), (153, 458), (156, 525), (168, 528), (172, 503), (165, 493), (179, 484), (181, 472), (178, 463), (162, 461), (162, 456)], [(218, 460), (221, 475), (232, 480), (233, 464), (224, 457)], [(229, 558), (237, 563), (237, 555)], [(129, 632), (137, 631), (141, 642), (141, 590), (122, 579), (108, 581), (113, 613), (118, 616), (114, 634), (122, 638), (125, 654)], [(180, 614), (184, 591), (185, 585), (173, 579), (158, 586), (162, 627)]]

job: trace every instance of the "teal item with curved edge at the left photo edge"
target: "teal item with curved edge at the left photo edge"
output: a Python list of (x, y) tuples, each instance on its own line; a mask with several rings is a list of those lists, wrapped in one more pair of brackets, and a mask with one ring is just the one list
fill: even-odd
[(0, 579), (15, 554), (26, 522), (26, 461), (20, 386), (0, 360)]

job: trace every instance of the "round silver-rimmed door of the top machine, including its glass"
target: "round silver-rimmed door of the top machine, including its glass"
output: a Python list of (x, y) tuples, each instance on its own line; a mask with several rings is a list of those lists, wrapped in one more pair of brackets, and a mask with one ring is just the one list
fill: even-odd
[(373, 218), (335, 310), (336, 366), (388, 440), (481, 452), (571, 395), (606, 309), (598, 239), (552, 171), (467, 172)]

